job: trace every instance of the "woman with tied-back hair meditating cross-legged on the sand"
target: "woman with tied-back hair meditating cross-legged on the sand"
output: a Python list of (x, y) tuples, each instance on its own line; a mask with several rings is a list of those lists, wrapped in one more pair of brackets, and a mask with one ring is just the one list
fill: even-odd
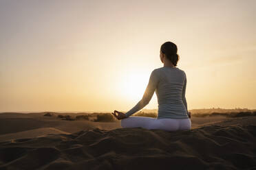
[[(186, 74), (178, 69), (177, 46), (164, 42), (160, 48), (160, 60), (164, 66), (154, 69), (142, 99), (126, 113), (114, 110), (112, 114), (120, 120), (122, 127), (143, 127), (166, 131), (191, 130), (191, 114), (186, 104)], [(144, 108), (156, 90), (158, 97), (158, 117), (131, 117)], [(117, 114), (116, 114), (117, 113)]]

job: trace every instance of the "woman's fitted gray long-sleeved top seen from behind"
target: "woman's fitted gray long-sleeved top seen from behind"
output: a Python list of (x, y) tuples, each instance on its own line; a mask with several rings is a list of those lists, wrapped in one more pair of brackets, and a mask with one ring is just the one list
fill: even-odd
[(125, 113), (127, 117), (144, 108), (156, 91), (158, 119), (189, 118), (186, 104), (186, 73), (178, 67), (162, 66), (151, 72), (149, 83), (142, 99)]

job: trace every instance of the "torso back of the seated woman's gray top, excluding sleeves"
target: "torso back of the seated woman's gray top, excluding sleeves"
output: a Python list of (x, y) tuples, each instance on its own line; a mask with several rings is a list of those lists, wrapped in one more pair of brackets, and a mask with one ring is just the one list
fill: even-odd
[(178, 67), (163, 66), (155, 70), (158, 80), (158, 119), (188, 118), (186, 107), (186, 74)]

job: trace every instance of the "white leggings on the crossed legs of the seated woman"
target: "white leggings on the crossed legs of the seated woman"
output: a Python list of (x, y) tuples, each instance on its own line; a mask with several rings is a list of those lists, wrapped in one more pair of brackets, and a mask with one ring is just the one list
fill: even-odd
[(157, 119), (152, 117), (127, 117), (121, 119), (122, 127), (143, 127), (145, 129), (159, 129), (165, 131), (191, 130), (191, 119)]

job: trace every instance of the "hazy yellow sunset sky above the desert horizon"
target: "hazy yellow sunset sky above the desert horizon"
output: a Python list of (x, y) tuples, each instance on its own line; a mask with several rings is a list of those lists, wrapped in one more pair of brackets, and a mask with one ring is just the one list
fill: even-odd
[[(167, 41), (189, 110), (255, 109), (255, 10), (250, 0), (0, 0), (0, 112), (127, 112)], [(158, 108), (156, 93), (145, 108)]]

